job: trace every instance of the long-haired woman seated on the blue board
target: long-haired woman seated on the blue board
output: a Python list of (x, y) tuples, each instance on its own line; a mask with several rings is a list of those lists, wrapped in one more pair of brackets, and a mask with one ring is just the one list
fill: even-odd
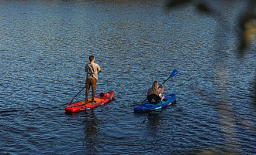
[(159, 88), (157, 81), (154, 81), (151, 88), (147, 91), (147, 100), (149, 103), (157, 104), (164, 99), (164, 96), (161, 95), (164, 93), (164, 86), (161, 84), (161, 87), (162, 88)]

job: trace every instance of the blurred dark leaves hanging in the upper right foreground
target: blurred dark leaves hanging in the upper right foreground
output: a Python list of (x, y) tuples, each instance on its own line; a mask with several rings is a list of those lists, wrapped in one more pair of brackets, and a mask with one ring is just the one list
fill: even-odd
[[(218, 2), (218, 1), (216, 1)], [(219, 2), (226, 2), (227, 4), (232, 4), (239, 1), (231, 1), (231, 0), (219, 0)], [(195, 9), (201, 12), (204, 15), (211, 15), (214, 18), (218, 19), (218, 21), (222, 21), (223, 15), (221, 12), (217, 12), (215, 8), (209, 5), (209, 1), (207, 0), (168, 0), (166, 3), (166, 7), (168, 10), (172, 8), (183, 8), (187, 5), (192, 4), (195, 5)], [(228, 5), (227, 5), (228, 6)], [(230, 7), (232, 7), (230, 5)], [(247, 6), (244, 8), (245, 12), (240, 15), (240, 19), (237, 20), (237, 28), (239, 29), (237, 33), (237, 38), (239, 39), (239, 43), (237, 45), (237, 53), (240, 58), (243, 58), (247, 52), (251, 51), (251, 43), (254, 42), (255, 33), (256, 33), (256, 1), (255, 0), (247, 0)], [(230, 15), (231, 17), (232, 15)], [(226, 17), (228, 18), (228, 17)], [(224, 22), (220, 23), (220, 32), (223, 31), (221, 29), (225, 29), (227, 26), (221, 27), (221, 25), (225, 25)], [(218, 32), (216, 32), (217, 35)], [(220, 52), (218, 49), (221, 49), (220, 44), (219, 47), (216, 47), (216, 52)], [(246, 61), (246, 60), (244, 60)], [(254, 86), (253, 86), (254, 85)], [(256, 77), (254, 80), (254, 84), (252, 88), (254, 89), (254, 100), (256, 100)], [(254, 102), (255, 103), (255, 102)]]

